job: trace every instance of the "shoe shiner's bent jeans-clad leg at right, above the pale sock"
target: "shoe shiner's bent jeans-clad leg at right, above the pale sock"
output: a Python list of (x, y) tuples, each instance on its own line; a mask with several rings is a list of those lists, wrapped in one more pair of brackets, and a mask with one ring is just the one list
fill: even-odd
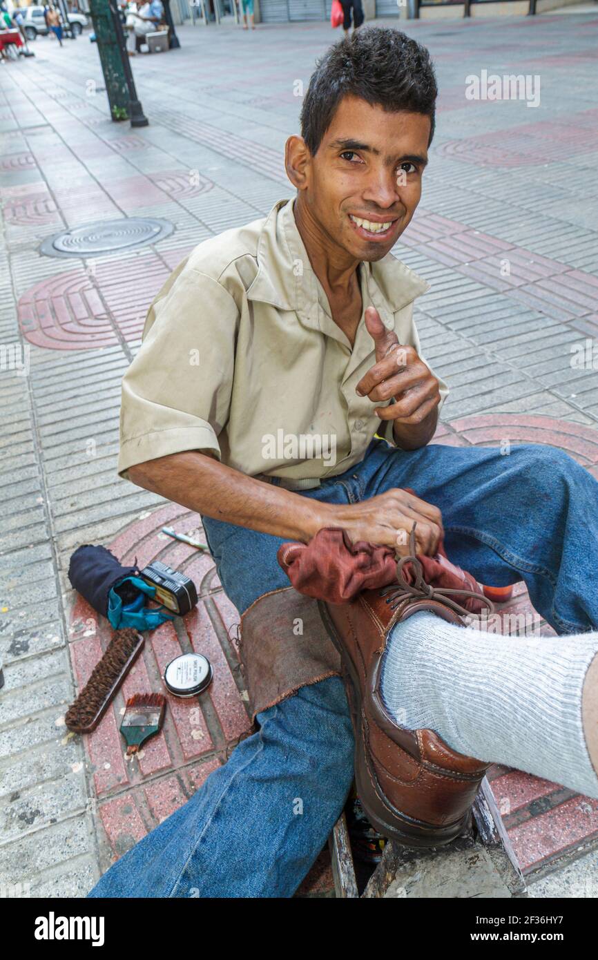
[(552, 446), (392, 450), (362, 468), (363, 496), (411, 487), (443, 514), (450, 560), (483, 584), (524, 580), (560, 634), (598, 629), (598, 483)]

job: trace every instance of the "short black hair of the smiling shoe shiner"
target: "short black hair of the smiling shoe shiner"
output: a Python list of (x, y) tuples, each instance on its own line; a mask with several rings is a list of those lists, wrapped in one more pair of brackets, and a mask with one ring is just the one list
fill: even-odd
[(301, 136), (314, 156), (344, 96), (352, 94), (389, 113), (410, 110), (435, 126), (438, 86), (430, 55), (392, 27), (366, 27), (346, 36), (318, 60), (301, 107)]

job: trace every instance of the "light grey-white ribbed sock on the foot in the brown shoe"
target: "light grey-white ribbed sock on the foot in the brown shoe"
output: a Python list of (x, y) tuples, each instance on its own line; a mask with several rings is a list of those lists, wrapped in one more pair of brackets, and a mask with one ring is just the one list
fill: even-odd
[(582, 723), (597, 653), (598, 633), (500, 636), (420, 612), (393, 629), (380, 690), (401, 726), (598, 799)]

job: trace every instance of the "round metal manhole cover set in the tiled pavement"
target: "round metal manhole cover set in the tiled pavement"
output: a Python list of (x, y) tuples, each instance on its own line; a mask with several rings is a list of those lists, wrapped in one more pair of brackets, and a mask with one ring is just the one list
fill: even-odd
[(39, 249), (49, 256), (93, 256), (155, 243), (173, 230), (173, 225), (167, 220), (145, 217), (104, 220), (55, 233), (44, 240)]

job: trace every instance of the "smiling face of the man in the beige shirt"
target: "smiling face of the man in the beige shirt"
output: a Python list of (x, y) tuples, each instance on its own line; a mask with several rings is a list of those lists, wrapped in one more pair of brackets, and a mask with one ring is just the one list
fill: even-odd
[(357, 260), (380, 260), (419, 204), (430, 119), (347, 96), (311, 160), (305, 200), (323, 232)]

